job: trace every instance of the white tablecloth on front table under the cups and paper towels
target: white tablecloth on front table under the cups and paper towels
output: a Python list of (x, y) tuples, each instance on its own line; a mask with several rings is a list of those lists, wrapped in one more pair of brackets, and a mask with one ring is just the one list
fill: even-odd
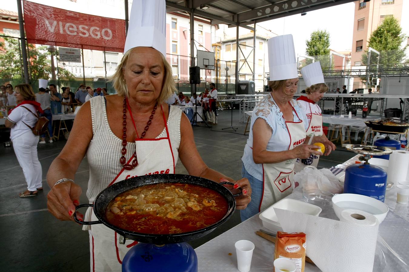
[[(354, 158), (347, 161), (346, 164), (352, 160)], [(407, 180), (409, 181), (409, 178)], [(288, 197), (302, 200), (302, 189), (297, 188)], [(409, 267), (405, 264), (409, 264), (409, 205), (396, 203), (395, 187), (387, 190), (385, 203), (389, 207), (389, 212), (379, 226), (373, 271), (409, 271)], [(338, 220), (332, 206), (321, 208), (320, 217)], [(252, 241), (255, 245), (251, 271), (272, 271), (274, 243), (255, 234), (262, 227), (262, 221), (257, 214), (196, 248), (199, 271), (237, 272), (234, 243), (242, 239)], [(229, 253), (231, 253), (231, 256)], [(357, 256), (357, 258), (359, 257)], [(306, 263), (305, 271), (321, 270), (315, 265)], [(342, 271), (342, 268), (339, 271)]]

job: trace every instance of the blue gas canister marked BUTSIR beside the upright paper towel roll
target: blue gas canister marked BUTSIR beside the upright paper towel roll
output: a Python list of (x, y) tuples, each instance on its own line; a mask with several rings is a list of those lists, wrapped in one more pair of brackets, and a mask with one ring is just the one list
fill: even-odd
[(369, 163), (353, 164), (345, 170), (344, 193), (366, 195), (385, 201), (387, 172)]

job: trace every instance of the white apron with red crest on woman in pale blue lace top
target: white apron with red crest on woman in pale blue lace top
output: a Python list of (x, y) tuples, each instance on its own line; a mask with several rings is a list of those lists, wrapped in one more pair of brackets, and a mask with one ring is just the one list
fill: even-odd
[[(294, 108), (292, 108), (292, 110), (295, 112)], [(290, 137), (288, 150), (292, 150), (294, 147), (303, 144), (306, 138), (303, 121), (285, 121), (285, 125), (287, 126), (287, 132)], [(261, 196), (259, 211), (265, 210), (280, 199), (291, 194), (291, 182), (294, 177), (294, 161), (295, 159), (288, 159), (275, 164), (263, 164), (263, 195)]]

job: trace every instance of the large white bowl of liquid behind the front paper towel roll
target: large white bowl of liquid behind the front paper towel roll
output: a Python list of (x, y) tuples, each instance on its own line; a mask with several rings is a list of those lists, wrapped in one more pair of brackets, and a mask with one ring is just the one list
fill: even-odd
[(369, 212), (378, 219), (379, 223), (382, 223), (389, 211), (385, 203), (366, 195), (339, 194), (332, 198), (332, 203), (334, 212), (339, 219), (341, 219), (342, 210), (356, 209)]

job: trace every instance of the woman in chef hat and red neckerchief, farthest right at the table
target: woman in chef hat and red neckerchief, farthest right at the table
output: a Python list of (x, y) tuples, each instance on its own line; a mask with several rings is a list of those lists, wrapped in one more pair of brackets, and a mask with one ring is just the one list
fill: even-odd
[[(321, 108), (316, 104), (324, 93), (328, 91), (328, 86), (324, 83), (319, 62), (314, 62), (301, 69), (301, 74), (306, 83), (306, 96), (301, 95), (297, 98), (304, 115), (307, 117), (308, 128), (307, 135), (314, 137), (315, 142), (320, 142), (325, 147), (325, 155), (328, 156), (332, 150), (335, 150), (335, 144), (330, 142), (322, 130)], [(297, 159), (295, 163), (295, 172), (300, 172), (305, 166), (311, 165), (317, 167), (319, 155), (310, 155), (307, 159)]]

